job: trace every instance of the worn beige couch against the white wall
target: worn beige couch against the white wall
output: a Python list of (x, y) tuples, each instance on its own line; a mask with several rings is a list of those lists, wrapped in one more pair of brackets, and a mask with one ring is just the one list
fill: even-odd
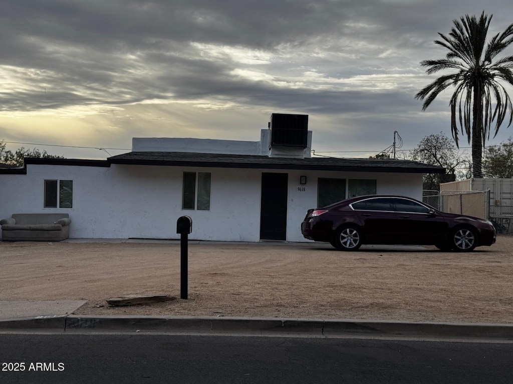
[(2, 241), (61, 241), (69, 238), (68, 214), (14, 214), (0, 220)]

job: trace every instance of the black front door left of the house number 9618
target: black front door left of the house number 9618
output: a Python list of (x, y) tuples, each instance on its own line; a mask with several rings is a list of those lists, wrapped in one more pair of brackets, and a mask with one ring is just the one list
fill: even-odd
[(260, 239), (287, 240), (288, 174), (262, 174)]

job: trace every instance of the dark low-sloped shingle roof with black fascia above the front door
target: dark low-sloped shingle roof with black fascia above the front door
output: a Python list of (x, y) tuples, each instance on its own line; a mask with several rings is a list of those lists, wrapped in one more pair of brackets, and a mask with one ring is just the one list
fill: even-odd
[[(144, 152), (128, 153), (124, 155), (117, 155), (109, 157), (107, 161), (111, 164), (123, 165), (157, 165), (157, 166), (188, 166), (188, 167), (210, 167), (210, 168), (260, 168), (260, 169), (295, 169), (295, 170), (332, 170), (332, 171), (350, 171), (350, 172), (393, 172), (393, 173), (435, 173), (444, 174), (445, 168), (438, 166), (429, 166), (418, 162), (412, 162), (412, 166), (404, 166), (406, 160), (367, 160), (367, 159), (341, 159), (329, 158), (341, 164), (326, 164), (325, 159), (287, 159), (287, 158), (269, 158), (266, 156), (254, 155), (235, 155), (238, 159), (245, 159), (245, 161), (223, 161), (222, 159), (229, 155), (219, 155), (220, 159), (212, 159), (212, 154), (209, 155), (209, 160), (169, 160), (169, 159), (144, 159)], [(176, 153), (170, 153), (175, 154)], [(191, 154), (184, 153), (187, 157), (198, 156), (201, 157), (205, 154)], [(125, 155), (132, 158), (123, 158)], [(154, 155), (154, 154), (153, 154)], [(215, 155), (214, 155), (215, 156)], [(252, 161), (253, 160), (253, 161)], [(254, 161), (258, 160), (258, 161)], [(266, 161), (268, 160), (268, 161)], [(343, 165), (344, 160), (351, 162), (358, 162), (355, 165)], [(365, 162), (373, 162), (373, 164)], [(397, 166), (393, 163), (396, 162)], [(388, 164), (377, 166), (378, 164)], [(403, 164), (403, 166), (399, 166)], [(415, 166), (418, 164), (418, 166)]]

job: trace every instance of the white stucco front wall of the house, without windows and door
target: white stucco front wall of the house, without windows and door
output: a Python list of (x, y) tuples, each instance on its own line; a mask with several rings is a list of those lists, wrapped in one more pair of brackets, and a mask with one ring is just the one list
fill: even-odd
[[(210, 210), (182, 209), (183, 172), (210, 172)], [(176, 220), (192, 218), (189, 239), (260, 240), (262, 172), (288, 173), (287, 241), (306, 241), (300, 224), (317, 205), (317, 179), (376, 179), (378, 194), (422, 199), (422, 175), (142, 165), (33, 165), (27, 175), (0, 175), (0, 218), (67, 212), (71, 238), (178, 239)], [(307, 184), (300, 185), (300, 176)], [(73, 180), (73, 208), (43, 208), (44, 180)], [(305, 190), (298, 190), (304, 187)]]

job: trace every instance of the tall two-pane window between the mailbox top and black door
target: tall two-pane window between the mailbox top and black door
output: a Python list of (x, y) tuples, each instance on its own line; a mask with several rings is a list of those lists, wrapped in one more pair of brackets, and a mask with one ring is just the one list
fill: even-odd
[(210, 173), (184, 172), (182, 209), (210, 210)]

